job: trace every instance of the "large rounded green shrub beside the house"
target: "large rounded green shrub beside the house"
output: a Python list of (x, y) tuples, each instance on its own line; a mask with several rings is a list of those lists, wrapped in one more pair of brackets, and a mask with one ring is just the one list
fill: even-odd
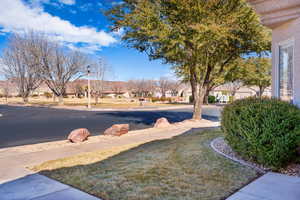
[(300, 110), (277, 99), (247, 98), (227, 105), (222, 130), (229, 145), (245, 159), (273, 169), (296, 159)]

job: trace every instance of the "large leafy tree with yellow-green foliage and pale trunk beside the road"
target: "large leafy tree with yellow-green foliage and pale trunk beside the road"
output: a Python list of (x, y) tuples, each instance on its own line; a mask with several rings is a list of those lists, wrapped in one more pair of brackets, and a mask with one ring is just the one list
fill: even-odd
[(188, 77), (193, 119), (201, 119), (207, 88), (232, 61), (270, 48), (269, 34), (245, 0), (124, 0), (107, 15), (129, 47)]

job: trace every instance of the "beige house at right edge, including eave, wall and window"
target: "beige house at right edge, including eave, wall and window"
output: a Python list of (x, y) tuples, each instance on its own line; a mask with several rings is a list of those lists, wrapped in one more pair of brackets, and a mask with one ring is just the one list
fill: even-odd
[(300, 0), (248, 0), (272, 29), (272, 96), (300, 106)]

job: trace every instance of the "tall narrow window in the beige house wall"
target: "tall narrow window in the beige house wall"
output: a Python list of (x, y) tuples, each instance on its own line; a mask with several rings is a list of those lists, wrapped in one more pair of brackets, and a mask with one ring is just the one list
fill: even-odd
[(279, 47), (279, 97), (284, 101), (293, 101), (293, 44)]

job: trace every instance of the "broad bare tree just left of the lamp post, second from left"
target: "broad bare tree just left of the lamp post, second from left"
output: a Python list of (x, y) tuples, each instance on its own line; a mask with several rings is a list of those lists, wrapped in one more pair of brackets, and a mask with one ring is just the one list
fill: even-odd
[(77, 51), (66, 50), (57, 43), (43, 40), (40, 43), (42, 64), (40, 76), (49, 89), (63, 104), (66, 86), (82, 77), (87, 66), (87, 57)]

